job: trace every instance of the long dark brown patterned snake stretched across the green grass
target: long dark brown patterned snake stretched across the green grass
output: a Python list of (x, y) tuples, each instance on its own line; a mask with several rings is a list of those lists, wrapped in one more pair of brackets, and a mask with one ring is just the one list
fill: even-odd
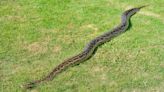
[(96, 49), (100, 45), (102, 45), (102, 44), (112, 40), (114, 37), (117, 37), (118, 35), (126, 32), (128, 27), (130, 26), (131, 17), (135, 13), (137, 13), (141, 8), (143, 8), (145, 6), (147, 6), (147, 5), (131, 8), (131, 9), (124, 11), (121, 15), (121, 22), (118, 26), (114, 27), (113, 29), (107, 31), (106, 33), (104, 33), (100, 36), (97, 36), (96, 38), (91, 40), (84, 47), (84, 50), (82, 52), (80, 52), (79, 54), (77, 54), (73, 57), (70, 57), (70, 58), (64, 60), (61, 64), (57, 65), (49, 74), (47, 74), (47, 76), (45, 76), (41, 79), (34, 80), (34, 81), (28, 82), (26, 84), (23, 84), (23, 85), (21, 85), (21, 87), (24, 87), (26, 89), (34, 88), (42, 82), (53, 80), (56, 75), (58, 75), (63, 70), (67, 69), (68, 67), (70, 67), (72, 65), (80, 64), (81, 62), (88, 60), (89, 58), (91, 58), (93, 56), (93, 53), (96, 51)]

